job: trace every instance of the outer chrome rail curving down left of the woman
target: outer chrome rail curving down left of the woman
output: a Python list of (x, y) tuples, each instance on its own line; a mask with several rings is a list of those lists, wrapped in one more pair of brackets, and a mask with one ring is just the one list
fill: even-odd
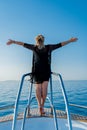
[(30, 74), (31, 73), (24, 74), (22, 76), (22, 79), (21, 79), (21, 84), (20, 84), (19, 91), (18, 91), (17, 98), (16, 98), (16, 102), (15, 102), (15, 109), (14, 109), (14, 117), (13, 117), (13, 123), (12, 123), (12, 130), (15, 130), (15, 126), (16, 126), (17, 112), (18, 112), (18, 102), (19, 102), (19, 99), (20, 99), (20, 95), (21, 95), (21, 91), (22, 91), (22, 86), (23, 86), (24, 78), (26, 76), (29, 76)]

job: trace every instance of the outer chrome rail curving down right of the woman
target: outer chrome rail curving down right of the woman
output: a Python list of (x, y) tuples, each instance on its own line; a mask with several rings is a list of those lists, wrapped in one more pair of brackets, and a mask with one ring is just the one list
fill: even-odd
[(61, 89), (62, 89), (62, 93), (63, 93), (63, 97), (64, 97), (64, 101), (65, 101), (65, 106), (66, 106), (66, 112), (67, 112), (68, 127), (69, 127), (69, 130), (72, 130), (69, 102), (68, 102), (68, 98), (67, 98), (67, 95), (66, 95), (62, 76), (60, 74), (54, 73), (54, 72), (52, 72), (52, 74), (60, 78)]

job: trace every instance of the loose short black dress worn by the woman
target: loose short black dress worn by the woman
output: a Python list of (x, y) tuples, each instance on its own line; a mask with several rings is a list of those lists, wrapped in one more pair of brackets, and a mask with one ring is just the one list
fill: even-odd
[(61, 43), (45, 45), (42, 49), (38, 49), (35, 45), (24, 43), (24, 47), (33, 51), (33, 81), (35, 83), (49, 81), (51, 74), (50, 54), (53, 50), (61, 47)]

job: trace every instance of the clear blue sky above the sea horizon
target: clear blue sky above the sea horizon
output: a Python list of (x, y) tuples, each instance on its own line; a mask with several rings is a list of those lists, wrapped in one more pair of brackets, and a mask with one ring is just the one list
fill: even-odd
[(18, 80), (31, 71), (32, 51), (7, 46), (8, 39), (45, 44), (79, 40), (52, 53), (52, 71), (65, 80), (87, 80), (87, 0), (0, 0), (0, 81)]

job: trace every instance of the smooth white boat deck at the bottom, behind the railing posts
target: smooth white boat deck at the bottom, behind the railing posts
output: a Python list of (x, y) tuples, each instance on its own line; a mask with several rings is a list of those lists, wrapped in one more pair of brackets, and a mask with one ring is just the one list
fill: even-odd
[[(21, 130), (21, 121), (17, 121), (16, 130)], [(68, 130), (66, 119), (57, 118), (59, 130)], [(80, 121), (72, 121), (73, 130), (87, 130), (87, 123)], [(12, 121), (0, 123), (0, 130), (11, 130)], [(55, 130), (53, 118), (38, 117), (27, 118), (25, 130)]]

